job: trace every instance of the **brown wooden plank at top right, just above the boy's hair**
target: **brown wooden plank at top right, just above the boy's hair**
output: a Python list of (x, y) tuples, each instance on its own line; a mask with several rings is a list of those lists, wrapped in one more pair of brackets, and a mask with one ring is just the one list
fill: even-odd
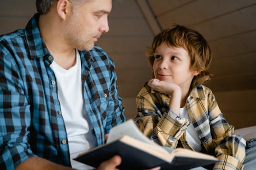
[(251, 5), (255, 5), (254, 0), (199, 0), (158, 16), (158, 19), (163, 28), (167, 28), (173, 22), (182, 25), (195, 25), (202, 21), (239, 11)]

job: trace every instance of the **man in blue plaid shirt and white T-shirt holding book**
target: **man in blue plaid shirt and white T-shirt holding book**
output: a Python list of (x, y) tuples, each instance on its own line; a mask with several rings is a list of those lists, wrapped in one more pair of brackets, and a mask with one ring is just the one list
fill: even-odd
[[(111, 0), (37, 0), (24, 30), (0, 37), (1, 169), (87, 169), (73, 160), (125, 121), (114, 63), (94, 43)], [(116, 169), (115, 156), (98, 169)]]

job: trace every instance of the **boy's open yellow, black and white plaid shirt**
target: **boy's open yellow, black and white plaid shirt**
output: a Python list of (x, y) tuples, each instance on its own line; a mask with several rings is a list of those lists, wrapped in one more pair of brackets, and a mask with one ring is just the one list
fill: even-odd
[(136, 123), (146, 136), (163, 146), (193, 150), (185, 133), (188, 126), (194, 126), (206, 153), (221, 160), (214, 169), (243, 169), (246, 142), (234, 134), (233, 126), (223, 117), (209, 88), (201, 85), (191, 90), (186, 100), (191, 123), (169, 109), (169, 101), (169, 95), (155, 91), (147, 84), (140, 90), (136, 99)]

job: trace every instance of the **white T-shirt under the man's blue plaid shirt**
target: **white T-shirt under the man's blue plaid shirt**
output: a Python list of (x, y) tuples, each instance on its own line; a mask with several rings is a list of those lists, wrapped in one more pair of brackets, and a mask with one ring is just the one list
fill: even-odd
[(75, 169), (92, 169), (73, 160), (78, 154), (96, 147), (96, 137), (84, 108), (79, 52), (76, 51), (76, 64), (68, 70), (56, 62), (50, 67), (57, 81), (58, 100), (68, 134), (71, 165)]

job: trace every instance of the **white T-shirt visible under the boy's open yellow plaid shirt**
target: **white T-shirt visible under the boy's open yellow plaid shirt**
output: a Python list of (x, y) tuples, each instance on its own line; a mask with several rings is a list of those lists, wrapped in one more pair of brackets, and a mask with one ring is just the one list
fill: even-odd
[[(191, 123), (191, 119), (188, 116), (186, 106), (183, 108), (180, 108), (180, 116), (188, 119), (188, 121)], [(186, 130), (186, 141), (188, 145), (191, 148), (193, 148), (195, 151), (200, 152), (202, 150), (201, 141), (193, 125), (190, 125)]]

